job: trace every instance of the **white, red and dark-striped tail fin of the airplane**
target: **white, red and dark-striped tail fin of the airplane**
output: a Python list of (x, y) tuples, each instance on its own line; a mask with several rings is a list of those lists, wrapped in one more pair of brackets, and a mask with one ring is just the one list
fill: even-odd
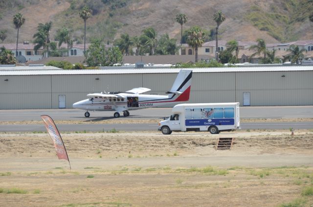
[(175, 101), (188, 101), (191, 88), (191, 76), (192, 70), (180, 70), (171, 90), (167, 92), (170, 93), (169, 97), (177, 95), (178, 97)]

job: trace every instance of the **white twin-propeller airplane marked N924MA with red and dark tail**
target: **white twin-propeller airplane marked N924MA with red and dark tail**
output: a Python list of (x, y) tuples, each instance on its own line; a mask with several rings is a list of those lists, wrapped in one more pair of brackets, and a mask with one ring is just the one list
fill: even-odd
[(151, 108), (188, 101), (191, 87), (191, 76), (192, 70), (180, 70), (172, 89), (169, 92), (166, 92), (168, 95), (140, 94), (151, 91), (151, 89), (147, 88), (134, 88), (127, 92), (117, 93), (90, 93), (87, 95), (89, 99), (74, 103), (73, 108), (86, 110), (86, 117), (89, 117), (89, 111), (115, 111), (114, 117), (118, 118), (121, 112), (123, 112), (125, 117), (129, 116), (129, 110)]

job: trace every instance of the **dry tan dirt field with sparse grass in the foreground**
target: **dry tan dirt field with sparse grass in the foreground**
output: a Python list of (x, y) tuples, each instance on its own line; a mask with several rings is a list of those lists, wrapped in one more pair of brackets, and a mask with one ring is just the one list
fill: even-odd
[(313, 206), (312, 130), (61, 134), (0, 134), (0, 207)]

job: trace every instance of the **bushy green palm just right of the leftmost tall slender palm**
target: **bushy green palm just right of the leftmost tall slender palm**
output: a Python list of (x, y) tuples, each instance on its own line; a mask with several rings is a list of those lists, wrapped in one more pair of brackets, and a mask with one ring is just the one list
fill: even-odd
[(44, 57), (45, 57), (45, 51), (47, 52), (47, 57), (49, 57), (49, 43), (50, 43), (50, 31), (52, 27), (52, 22), (48, 23), (39, 23), (38, 24), (38, 32), (36, 32), (33, 36), (35, 38), (34, 43), (37, 45), (34, 46), (35, 51), (37, 51), (39, 48), (44, 48)]

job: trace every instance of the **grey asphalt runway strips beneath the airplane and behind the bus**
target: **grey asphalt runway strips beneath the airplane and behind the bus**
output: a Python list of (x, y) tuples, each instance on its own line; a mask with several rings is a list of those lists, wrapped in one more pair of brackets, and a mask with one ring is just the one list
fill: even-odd
[[(172, 108), (150, 108), (130, 111), (129, 117), (119, 119), (162, 119), (171, 115)], [(85, 111), (77, 109), (57, 110), (0, 110), (0, 121), (29, 121), (41, 120), (40, 115), (50, 115), (54, 120), (85, 120), (93, 123), (99, 120), (110, 120), (113, 112), (90, 112), (90, 117), (84, 116)], [(241, 118), (313, 118), (313, 106), (274, 106), (274, 107), (241, 107)], [(61, 124), (57, 126), (60, 131), (154, 131), (157, 123), (143, 124)], [(247, 129), (313, 129), (313, 122), (251, 122), (241, 123)], [(0, 125), (0, 132), (40, 132), (45, 131), (44, 125)]]

